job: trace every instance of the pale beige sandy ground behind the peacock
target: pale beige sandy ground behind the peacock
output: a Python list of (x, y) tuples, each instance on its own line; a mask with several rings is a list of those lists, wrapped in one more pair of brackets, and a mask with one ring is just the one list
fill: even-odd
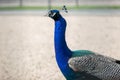
[[(120, 59), (119, 15), (65, 15), (72, 50)], [(65, 80), (54, 57), (54, 21), (35, 15), (0, 16), (0, 80)]]

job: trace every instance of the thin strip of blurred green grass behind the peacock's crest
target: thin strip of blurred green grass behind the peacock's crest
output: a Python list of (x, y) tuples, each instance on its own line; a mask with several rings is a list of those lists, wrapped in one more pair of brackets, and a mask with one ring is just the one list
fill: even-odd
[[(61, 9), (62, 6), (52, 6), (52, 9)], [(120, 5), (81, 5), (81, 6), (67, 6), (68, 9), (80, 10), (80, 9), (120, 9)], [(0, 10), (47, 10), (47, 6), (11, 6), (0, 7)]]

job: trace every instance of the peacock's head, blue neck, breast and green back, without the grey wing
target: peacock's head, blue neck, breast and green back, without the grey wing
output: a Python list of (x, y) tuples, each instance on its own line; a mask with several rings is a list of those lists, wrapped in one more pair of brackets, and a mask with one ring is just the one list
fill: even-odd
[(67, 26), (65, 19), (58, 10), (50, 10), (48, 15), (55, 21), (54, 46), (56, 61), (65, 78), (67, 80), (100, 80), (85, 72), (75, 72), (69, 67), (68, 61), (71, 57), (93, 54), (93, 52), (87, 50), (71, 51), (65, 40)]

